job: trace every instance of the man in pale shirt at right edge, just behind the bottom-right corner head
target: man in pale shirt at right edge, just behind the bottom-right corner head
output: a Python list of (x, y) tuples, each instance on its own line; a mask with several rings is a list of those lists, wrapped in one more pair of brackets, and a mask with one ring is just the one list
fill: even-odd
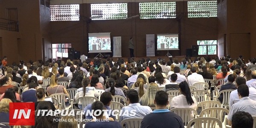
[(256, 116), (256, 101), (249, 98), (249, 87), (246, 84), (241, 84), (237, 91), (240, 101), (232, 105), (227, 116), (228, 125), (232, 124), (232, 116), (238, 111), (244, 111)]

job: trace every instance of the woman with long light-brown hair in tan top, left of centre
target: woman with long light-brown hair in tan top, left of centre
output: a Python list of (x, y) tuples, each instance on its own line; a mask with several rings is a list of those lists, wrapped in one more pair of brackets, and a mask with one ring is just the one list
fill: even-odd
[(47, 95), (50, 96), (50, 95), (55, 94), (55, 93), (64, 93), (64, 94), (69, 95), (67, 93), (66, 88), (62, 85), (58, 85), (57, 82), (58, 82), (57, 77), (52, 75), (50, 86), (47, 87)]

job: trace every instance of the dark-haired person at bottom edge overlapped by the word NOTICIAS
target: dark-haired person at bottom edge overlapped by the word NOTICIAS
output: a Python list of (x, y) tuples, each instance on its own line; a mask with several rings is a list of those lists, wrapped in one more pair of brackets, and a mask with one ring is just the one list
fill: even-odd
[(101, 114), (99, 116), (96, 116), (93, 113), (93, 116), (95, 116), (96, 119), (94, 118), (92, 122), (87, 122), (85, 124), (85, 128), (122, 128), (120, 123), (114, 121), (113, 118), (106, 118), (105, 114), (102, 112), (102, 110), (106, 109), (102, 102), (93, 102), (91, 108), (94, 111), (99, 110)]

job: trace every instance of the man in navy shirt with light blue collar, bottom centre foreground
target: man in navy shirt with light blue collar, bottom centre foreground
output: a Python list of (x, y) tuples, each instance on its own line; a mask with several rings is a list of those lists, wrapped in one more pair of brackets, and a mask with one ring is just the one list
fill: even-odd
[(180, 116), (166, 109), (169, 102), (165, 91), (157, 91), (154, 104), (156, 109), (145, 115), (140, 128), (184, 128)]

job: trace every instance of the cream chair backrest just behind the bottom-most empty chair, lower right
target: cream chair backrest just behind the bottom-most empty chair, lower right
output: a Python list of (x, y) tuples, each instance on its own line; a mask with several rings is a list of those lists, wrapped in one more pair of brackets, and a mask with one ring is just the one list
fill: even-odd
[(226, 108), (222, 107), (213, 107), (213, 108), (206, 108), (202, 109), (199, 117), (214, 117), (219, 119), (221, 122), (224, 121), (223, 114), (228, 115), (229, 111)]

